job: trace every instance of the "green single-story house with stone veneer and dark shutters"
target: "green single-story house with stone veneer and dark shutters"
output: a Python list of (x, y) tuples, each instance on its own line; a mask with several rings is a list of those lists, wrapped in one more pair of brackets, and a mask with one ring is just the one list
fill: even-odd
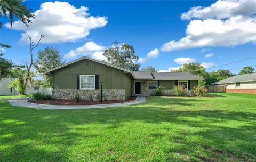
[(163, 95), (173, 95), (174, 85), (186, 87), (186, 94), (202, 78), (187, 72), (134, 72), (83, 56), (45, 71), (53, 79), (52, 98), (98, 100), (100, 83), (106, 100), (125, 100), (132, 95), (155, 95), (156, 86), (165, 87)]

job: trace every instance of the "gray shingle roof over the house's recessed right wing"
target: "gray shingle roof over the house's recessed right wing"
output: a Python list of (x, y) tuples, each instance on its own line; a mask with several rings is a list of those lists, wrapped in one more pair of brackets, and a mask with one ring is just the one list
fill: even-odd
[(201, 80), (201, 77), (188, 72), (132, 72), (135, 79), (153, 80)]

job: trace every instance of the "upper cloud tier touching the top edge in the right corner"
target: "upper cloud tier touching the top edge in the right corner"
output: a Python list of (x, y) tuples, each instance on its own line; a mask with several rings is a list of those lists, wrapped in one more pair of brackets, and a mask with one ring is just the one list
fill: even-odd
[(181, 19), (225, 19), (237, 15), (250, 16), (256, 14), (255, 6), (255, 0), (219, 0), (208, 7), (192, 7), (188, 12), (181, 14)]

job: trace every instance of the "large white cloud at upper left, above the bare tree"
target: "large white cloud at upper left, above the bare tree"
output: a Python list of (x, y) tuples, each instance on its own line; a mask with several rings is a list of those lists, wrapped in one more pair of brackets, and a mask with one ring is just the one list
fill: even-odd
[(45, 35), (41, 43), (74, 42), (89, 35), (90, 30), (107, 24), (107, 17), (93, 17), (88, 10), (68, 2), (44, 2), (28, 28), (21, 21), (15, 21), (12, 28), (9, 23), (5, 27), (25, 31), (21, 34), (21, 43), (28, 43), (28, 36), (37, 40), (41, 34)]

